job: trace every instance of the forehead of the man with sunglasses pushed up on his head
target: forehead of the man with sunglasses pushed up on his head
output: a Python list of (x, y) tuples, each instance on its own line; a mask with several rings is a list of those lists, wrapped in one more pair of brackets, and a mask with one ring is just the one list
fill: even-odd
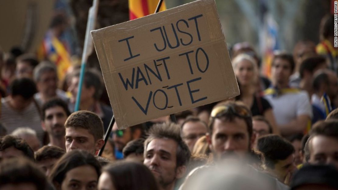
[(225, 118), (216, 118), (213, 126), (213, 133), (248, 133), (244, 119), (235, 117), (232, 121)]

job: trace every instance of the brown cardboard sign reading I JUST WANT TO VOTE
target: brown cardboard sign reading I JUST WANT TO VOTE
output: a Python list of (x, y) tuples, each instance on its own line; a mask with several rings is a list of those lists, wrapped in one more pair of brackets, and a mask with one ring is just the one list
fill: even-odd
[(214, 0), (91, 34), (120, 129), (239, 94)]

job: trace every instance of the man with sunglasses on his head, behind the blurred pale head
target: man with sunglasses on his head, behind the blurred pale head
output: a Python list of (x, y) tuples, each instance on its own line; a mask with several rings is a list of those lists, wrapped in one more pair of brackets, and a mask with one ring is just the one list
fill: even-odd
[(253, 134), (252, 130), (251, 112), (244, 104), (226, 102), (216, 105), (210, 115), (208, 130), (207, 141), (213, 153), (215, 166), (202, 166), (193, 170), (183, 184), (182, 190), (185, 190), (202, 173), (226, 169), (222, 166), (224, 167), (224, 164), (229, 165), (229, 163), (240, 163), (239, 165), (244, 166), (241, 172), (250, 173), (250, 176), (264, 177), (269, 181), (272, 189), (288, 189), (276, 178), (249, 166), (256, 135)]

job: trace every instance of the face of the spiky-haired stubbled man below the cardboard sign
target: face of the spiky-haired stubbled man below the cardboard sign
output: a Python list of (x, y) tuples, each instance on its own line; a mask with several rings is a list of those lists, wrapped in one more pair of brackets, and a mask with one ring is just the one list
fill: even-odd
[(145, 150), (144, 165), (151, 170), (162, 187), (176, 180), (177, 146), (172, 139), (154, 139)]

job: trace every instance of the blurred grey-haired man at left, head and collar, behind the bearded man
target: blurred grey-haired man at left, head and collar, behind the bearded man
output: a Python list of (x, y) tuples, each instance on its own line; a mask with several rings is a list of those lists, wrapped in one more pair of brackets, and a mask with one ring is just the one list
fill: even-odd
[(34, 98), (39, 103), (44, 104), (56, 97), (69, 102), (66, 92), (57, 88), (58, 78), (55, 64), (48, 61), (39, 63), (34, 69), (34, 81), (37, 83), (38, 89)]

